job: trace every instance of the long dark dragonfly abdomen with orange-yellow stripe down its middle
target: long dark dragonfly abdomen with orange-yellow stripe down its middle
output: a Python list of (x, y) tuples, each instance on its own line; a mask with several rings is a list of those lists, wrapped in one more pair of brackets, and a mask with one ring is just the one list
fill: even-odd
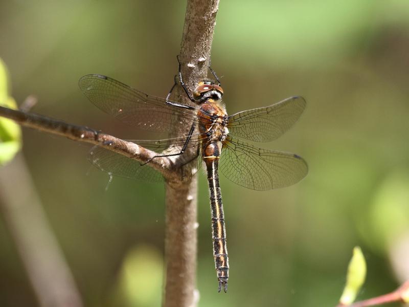
[[(223, 204), (221, 201), (221, 191), (219, 184), (218, 162), (220, 158), (221, 143), (214, 142), (208, 144), (203, 150), (203, 160), (206, 163), (210, 206), (212, 211), (212, 239), (213, 256), (216, 266), (217, 279), (219, 281), (219, 292), (223, 287), (227, 291), (227, 282), (229, 279), (229, 256), (226, 246), (226, 229), (224, 225)], [(213, 149), (213, 150), (212, 150)]]

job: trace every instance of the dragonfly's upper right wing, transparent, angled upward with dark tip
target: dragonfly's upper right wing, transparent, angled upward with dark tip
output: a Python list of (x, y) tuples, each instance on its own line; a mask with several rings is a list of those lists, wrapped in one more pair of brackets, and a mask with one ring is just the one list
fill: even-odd
[(294, 96), (272, 104), (229, 116), (229, 135), (255, 142), (269, 142), (280, 137), (300, 117), (306, 102)]

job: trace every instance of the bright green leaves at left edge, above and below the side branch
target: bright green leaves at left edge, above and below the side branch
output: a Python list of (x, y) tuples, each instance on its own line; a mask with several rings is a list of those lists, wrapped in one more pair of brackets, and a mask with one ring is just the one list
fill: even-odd
[[(0, 58), (0, 106), (17, 108), (16, 102), (8, 93), (8, 73)], [(21, 147), (21, 129), (14, 121), (0, 117), (0, 166), (6, 164)]]

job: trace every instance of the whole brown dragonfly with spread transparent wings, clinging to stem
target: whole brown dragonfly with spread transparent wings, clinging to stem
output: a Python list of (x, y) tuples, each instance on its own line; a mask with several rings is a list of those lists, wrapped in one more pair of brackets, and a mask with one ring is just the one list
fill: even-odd
[[(135, 140), (135, 143), (156, 151), (156, 157), (184, 157), (186, 150), (197, 149), (198, 161), (205, 165), (209, 183), (218, 292), (221, 289), (227, 292), (229, 255), (219, 171), (232, 182), (253, 190), (286, 187), (302, 180), (308, 172), (303, 158), (294, 153), (262, 149), (247, 141), (277, 139), (299, 119), (306, 102), (300, 96), (293, 96), (228, 116), (222, 103), (224, 93), (220, 81), (210, 70), (216, 80), (199, 81), (191, 94), (183, 82), (179, 63), (178, 81), (194, 105), (170, 99), (176, 77), (166, 98), (147, 95), (115, 79), (96, 74), (83, 76), (79, 87), (92, 103), (124, 123), (156, 133), (171, 133), (178, 125), (181, 131), (185, 131), (182, 136)], [(160, 172), (149, 167), (149, 162), (141, 163), (98, 145), (90, 150), (88, 159), (110, 176), (151, 182), (164, 180)]]

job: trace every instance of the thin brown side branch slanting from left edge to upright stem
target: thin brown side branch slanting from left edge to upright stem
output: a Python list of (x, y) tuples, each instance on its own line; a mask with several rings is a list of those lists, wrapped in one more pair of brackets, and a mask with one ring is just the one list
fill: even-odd
[(14, 120), (22, 126), (41, 130), (53, 135), (66, 137), (70, 140), (99, 145), (115, 151), (125, 157), (135, 159), (141, 163), (149, 162), (149, 166), (160, 171), (165, 178), (170, 178), (175, 165), (166, 157), (158, 157), (156, 152), (146, 149), (133, 142), (104, 134), (98, 130), (85, 126), (78, 126), (46, 116), (28, 113), (0, 106), (0, 116)]

